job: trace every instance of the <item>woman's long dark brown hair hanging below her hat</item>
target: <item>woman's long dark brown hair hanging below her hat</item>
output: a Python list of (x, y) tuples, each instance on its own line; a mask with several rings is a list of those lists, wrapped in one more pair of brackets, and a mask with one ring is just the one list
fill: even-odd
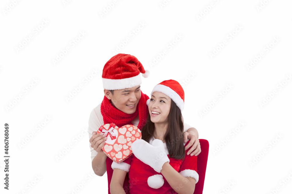
[[(150, 142), (154, 136), (155, 126), (150, 120), (148, 112), (148, 118), (145, 126), (141, 130), (142, 139)], [(185, 158), (185, 146), (183, 145), (183, 116), (176, 106), (175, 102), (171, 100), (170, 111), (167, 117), (167, 128), (164, 135), (164, 140), (168, 149), (169, 157), (175, 159)]]

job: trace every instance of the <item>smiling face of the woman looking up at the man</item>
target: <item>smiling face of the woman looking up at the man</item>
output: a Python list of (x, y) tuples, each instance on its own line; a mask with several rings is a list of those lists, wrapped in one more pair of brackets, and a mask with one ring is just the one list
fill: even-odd
[(153, 92), (148, 105), (151, 121), (166, 124), (170, 106), (171, 99), (168, 96), (161, 92)]

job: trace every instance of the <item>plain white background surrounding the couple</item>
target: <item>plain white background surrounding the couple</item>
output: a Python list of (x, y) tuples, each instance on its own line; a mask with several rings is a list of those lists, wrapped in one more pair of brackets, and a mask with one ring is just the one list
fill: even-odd
[[(113, 1), (12, 2), (0, 5), (0, 155), (8, 123), (11, 156), (9, 191), (0, 160), (1, 193), (107, 193), (106, 174), (92, 175), (85, 132), (103, 99), (103, 65), (117, 47), (150, 70), (142, 78), (145, 94), (166, 79), (182, 83), (184, 119), (210, 143), (204, 193), (291, 193), (291, 1), (173, 0), (161, 6), (162, 0), (117, 0), (112, 8)], [(78, 39), (80, 32), (86, 35)], [(257, 63), (249, 66), (251, 60)], [(232, 135), (240, 122), (244, 127)]]

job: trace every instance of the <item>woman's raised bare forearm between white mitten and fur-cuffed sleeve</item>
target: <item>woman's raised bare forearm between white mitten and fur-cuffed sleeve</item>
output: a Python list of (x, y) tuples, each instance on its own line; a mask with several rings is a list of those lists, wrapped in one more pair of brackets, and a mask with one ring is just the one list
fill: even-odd
[(176, 191), (180, 193), (193, 194), (195, 190), (196, 180), (191, 177), (184, 177), (168, 163), (162, 165), (161, 174), (164, 176), (168, 184)]

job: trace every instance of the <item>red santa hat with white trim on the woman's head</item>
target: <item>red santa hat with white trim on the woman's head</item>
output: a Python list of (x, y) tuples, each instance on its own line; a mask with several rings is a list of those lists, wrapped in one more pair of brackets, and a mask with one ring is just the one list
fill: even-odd
[[(165, 80), (159, 84), (157, 84), (152, 92), (162, 92), (168, 97), (170, 97), (173, 102), (175, 102), (176, 106), (180, 108), (180, 111), (183, 111), (185, 107), (185, 92), (183, 91), (183, 87), (175, 80)], [(149, 105), (150, 99), (147, 100), (147, 105)]]

